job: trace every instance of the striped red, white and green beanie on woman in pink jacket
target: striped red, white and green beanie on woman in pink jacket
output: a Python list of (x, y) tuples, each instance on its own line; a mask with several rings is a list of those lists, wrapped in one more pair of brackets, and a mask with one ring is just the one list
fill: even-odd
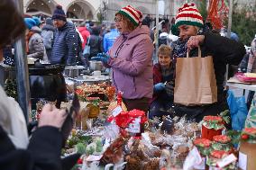
[(138, 26), (142, 22), (142, 12), (133, 8), (131, 5), (123, 7), (118, 13), (126, 16), (135, 26)]

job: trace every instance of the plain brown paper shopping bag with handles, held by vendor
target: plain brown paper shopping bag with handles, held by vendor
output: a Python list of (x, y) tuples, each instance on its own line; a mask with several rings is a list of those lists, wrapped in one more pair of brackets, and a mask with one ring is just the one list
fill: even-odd
[(177, 58), (174, 103), (203, 105), (217, 102), (217, 86), (213, 57)]

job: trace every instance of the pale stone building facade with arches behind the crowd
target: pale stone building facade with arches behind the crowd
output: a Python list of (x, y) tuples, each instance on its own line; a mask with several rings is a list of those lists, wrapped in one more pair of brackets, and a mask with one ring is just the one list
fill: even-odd
[[(186, 2), (198, 3), (199, 0), (23, 0), (23, 9), (25, 13), (43, 13), (51, 15), (57, 4), (62, 5), (69, 18), (73, 20), (98, 20), (98, 13), (104, 17), (104, 20), (112, 22), (114, 13), (121, 7), (132, 4), (135, 8), (153, 17), (157, 12), (156, 2), (159, 1), (160, 17), (164, 15), (171, 19), (181, 4)], [(239, 0), (239, 4), (253, 3), (255, 0)]]

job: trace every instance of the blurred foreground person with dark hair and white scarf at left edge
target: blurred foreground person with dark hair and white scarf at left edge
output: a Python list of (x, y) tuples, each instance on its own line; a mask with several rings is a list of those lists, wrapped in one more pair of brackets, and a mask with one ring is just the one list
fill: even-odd
[[(0, 61), (3, 48), (25, 31), (23, 17), (13, 1), (0, 1)], [(41, 111), (38, 128), (28, 138), (26, 122), (19, 104), (6, 96), (0, 86), (0, 167), (1, 170), (71, 169), (79, 155), (61, 160), (63, 142), (59, 130), (67, 117), (64, 110), (46, 104)]]

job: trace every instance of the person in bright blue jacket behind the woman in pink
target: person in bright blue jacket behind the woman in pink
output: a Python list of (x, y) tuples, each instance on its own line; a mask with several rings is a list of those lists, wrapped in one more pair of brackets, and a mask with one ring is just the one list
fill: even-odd
[(103, 39), (104, 52), (107, 52), (112, 48), (114, 40), (120, 35), (119, 31), (116, 30), (114, 23), (110, 26), (110, 32), (106, 33)]

